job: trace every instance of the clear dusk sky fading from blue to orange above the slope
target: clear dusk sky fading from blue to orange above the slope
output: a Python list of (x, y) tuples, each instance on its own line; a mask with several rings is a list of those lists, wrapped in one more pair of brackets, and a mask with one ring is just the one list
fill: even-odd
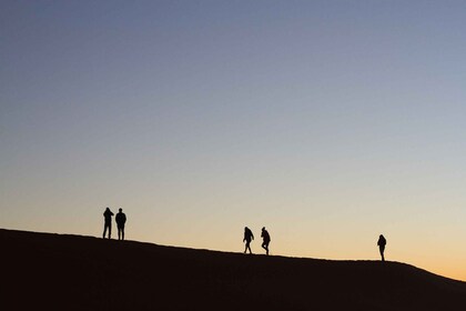
[(0, 227), (466, 280), (465, 1), (1, 1)]

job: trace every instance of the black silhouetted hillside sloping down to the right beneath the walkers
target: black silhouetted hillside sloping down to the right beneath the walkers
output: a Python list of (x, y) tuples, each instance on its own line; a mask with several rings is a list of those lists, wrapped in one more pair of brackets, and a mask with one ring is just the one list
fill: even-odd
[(458, 310), (412, 265), (244, 255), (0, 230), (2, 310)]

